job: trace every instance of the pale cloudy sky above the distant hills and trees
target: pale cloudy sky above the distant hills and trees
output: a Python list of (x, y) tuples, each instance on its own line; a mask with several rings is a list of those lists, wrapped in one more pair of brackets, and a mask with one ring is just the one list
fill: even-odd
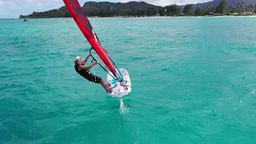
[[(94, 2), (130, 2), (143, 1), (156, 6), (167, 6), (171, 4), (194, 4), (198, 2), (209, 2), (212, 0), (90, 0)], [(78, 0), (83, 5), (88, 0)], [(18, 18), (19, 15), (32, 14), (34, 11), (46, 11), (58, 9), (64, 6), (62, 0), (0, 0), (0, 18)]]

